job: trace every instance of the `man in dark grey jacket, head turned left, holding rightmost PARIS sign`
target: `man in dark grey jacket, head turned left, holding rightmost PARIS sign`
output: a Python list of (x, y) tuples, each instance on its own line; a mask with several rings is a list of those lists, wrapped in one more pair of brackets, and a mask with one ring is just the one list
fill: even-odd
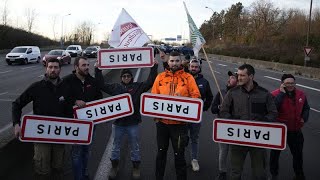
[[(238, 86), (225, 96), (220, 117), (248, 121), (272, 122), (277, 108), (272, 95), (253, 80), (255, 70), (250, 64), (238, 68)], [(247, 154), (250, 153), (251, 173), (254, 180), (266, 180), (267, 151), (263, 148), (230, 145), (231, 179), (240, 180)]]

